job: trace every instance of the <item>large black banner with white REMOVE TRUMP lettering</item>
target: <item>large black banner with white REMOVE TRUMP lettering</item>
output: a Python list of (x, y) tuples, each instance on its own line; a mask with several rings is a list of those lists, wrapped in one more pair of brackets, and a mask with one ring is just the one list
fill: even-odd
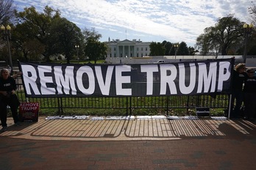
[(26, 97), (228, 94), (233, 59), (164, 64), (20, 62)]

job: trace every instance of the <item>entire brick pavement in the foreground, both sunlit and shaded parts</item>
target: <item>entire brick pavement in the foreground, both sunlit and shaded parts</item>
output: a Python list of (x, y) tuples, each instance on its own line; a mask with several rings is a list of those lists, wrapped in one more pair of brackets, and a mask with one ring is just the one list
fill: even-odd
[(0, 169), (255, 169), (256, 125), (213, 119), (54, 119), (0, 133)]

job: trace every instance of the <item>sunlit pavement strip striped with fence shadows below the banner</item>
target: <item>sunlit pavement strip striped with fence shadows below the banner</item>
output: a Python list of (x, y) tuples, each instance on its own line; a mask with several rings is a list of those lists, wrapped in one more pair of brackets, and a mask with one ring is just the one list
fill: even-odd
[[(39, 119), (11, 125), (0, 136), (21, 138), (82, 138), (87, 140), (180, 139), (198, 137), (239, 138), (255, 136), (256, 125), (245, 120), (214, 119)], [(72, 139), (74, 140), (74, 139)]]

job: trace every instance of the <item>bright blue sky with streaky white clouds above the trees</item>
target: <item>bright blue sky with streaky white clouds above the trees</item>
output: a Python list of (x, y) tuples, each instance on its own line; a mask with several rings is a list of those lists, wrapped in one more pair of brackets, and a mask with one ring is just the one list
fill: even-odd
[(34, 6), (43, 12), (48, 5), (80, 29), (94, 28), (101, 42), (186, 42), (193, 47), (204, 29), (218, 18), (233, 14), (249, 23), (249, 0), (13, 0), (18, 11)]

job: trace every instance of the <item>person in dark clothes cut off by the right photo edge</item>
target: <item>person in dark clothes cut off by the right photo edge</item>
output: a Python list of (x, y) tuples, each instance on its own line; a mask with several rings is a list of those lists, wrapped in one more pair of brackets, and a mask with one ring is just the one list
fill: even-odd
[(246, 70), (248, 74), (247, 80), (244, 82), (244, 113), (245, 119), (254, 121), (256, 115), (256, 77), (254, 76), (255, 70)]

